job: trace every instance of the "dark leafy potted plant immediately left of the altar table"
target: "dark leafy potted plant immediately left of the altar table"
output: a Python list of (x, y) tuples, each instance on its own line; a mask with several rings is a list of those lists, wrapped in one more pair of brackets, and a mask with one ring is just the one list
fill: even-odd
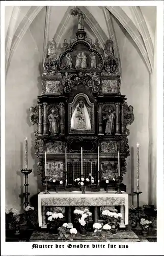
[(26, 221), (26, 226), (29, 229), (34, 229), (37, 224), (38, 212), (33, 206), (26, 206), (24, 209), (24, 219)]

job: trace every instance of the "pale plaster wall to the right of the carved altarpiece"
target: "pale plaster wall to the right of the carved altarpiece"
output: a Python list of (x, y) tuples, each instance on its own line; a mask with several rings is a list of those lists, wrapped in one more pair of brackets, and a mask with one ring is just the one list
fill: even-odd
[[(128, 126), (130, 156), (127, 158), (127, 186), (129, 202), (136, 203), (132, 191), (136, 191), (136, 144), (140, 144), (140, 203), (148, 203), (148, 150), (149, 150), (149, 73), (131, 37), (114, 20), (122, 64), (121, 94), (126, 95), (128, 105), (134, 110), (134, 121)], [(134, 182), (133, 182), (134, 180)], [(134, 200), (132, 200), (134, 199)]]

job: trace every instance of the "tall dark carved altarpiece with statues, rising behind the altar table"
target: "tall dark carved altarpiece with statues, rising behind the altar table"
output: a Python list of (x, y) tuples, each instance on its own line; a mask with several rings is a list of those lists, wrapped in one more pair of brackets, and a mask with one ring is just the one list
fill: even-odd
[[(57, 48), (54, 39), (47, 46), (43, 92), (37, 105), (30, 108), (30, 120), (37, 124), (38, 174), (45, 186), (46, 151), (49, 190), (54, 190), (54, 183), (49, 182), (54, 177), (64, 181), (67, 178), (67, 186), (64, 182), (60, 190), (74, 189), (74, 179), (81, 174), (81, 147), (83, 176), (89, 178), (92, 170), (97, 189), (104, 187), (106, 178), (111, 188), (117, 188), (118, 151), (121, 182), (126, 173), (127, 124), (133, 122), (134, 116), (133, 107), (127, 105), (125, 95), (120, 93), (120, 59), (115, 57), (112, 39), (102, 49), (97, 39), (92, 42), (87, 36), (84, 15), (80, 19), (82, 23), (74, 39), (65, 39), (62, 48)], [(126, 191), (123, 185), (121, 189)]]

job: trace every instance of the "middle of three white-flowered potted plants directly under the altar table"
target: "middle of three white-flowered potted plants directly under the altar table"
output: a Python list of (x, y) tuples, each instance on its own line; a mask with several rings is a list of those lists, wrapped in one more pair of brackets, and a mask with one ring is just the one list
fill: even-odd
[(92, 212), (86, 208), (84, 210), (75, 209), (73, 213), (76, 215), (75, 222), (80, 224), (81, 236), (86, 236), (88, 223), (89, 221), (92, 221)]

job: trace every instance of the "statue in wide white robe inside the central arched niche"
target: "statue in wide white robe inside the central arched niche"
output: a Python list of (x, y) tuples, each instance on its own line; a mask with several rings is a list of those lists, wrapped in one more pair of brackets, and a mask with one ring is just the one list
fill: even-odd
[(88, 110), (83, 100), (76, 105), (71, 118), (71, 129), (77, 131), (91, 131), (91, 122)]

